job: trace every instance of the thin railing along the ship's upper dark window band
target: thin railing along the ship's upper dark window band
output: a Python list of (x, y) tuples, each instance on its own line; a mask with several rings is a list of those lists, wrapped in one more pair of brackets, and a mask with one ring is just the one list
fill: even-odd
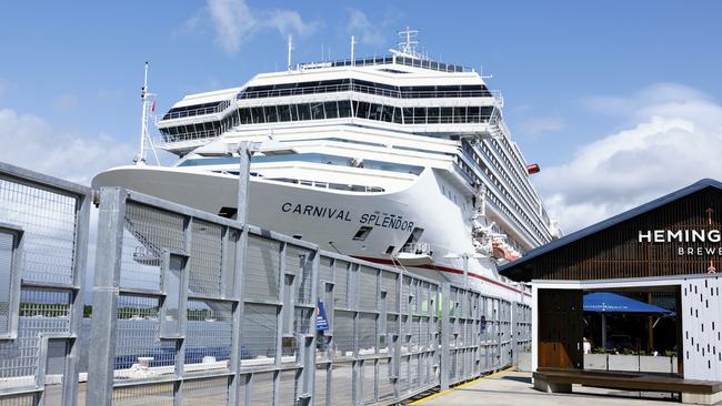
[(335, 93), (335, 92), (359, 92), (374, 95), (381, 95), (395, 99), (437, 99), (437, 98), (494, 98), (497, 102), (502, 101), (501, 92), (495, 90), (434, 90), (434, 91), (400, 91), (393, 89), (383, 89), (359, 83), (324, 84), (309, 88), (294, 89), (273, 89), (273, 90), (252, 90), (241, 91), (237, 99), (265, 99), (283, 98), (292, 95), (305, 95), (317, 93)]

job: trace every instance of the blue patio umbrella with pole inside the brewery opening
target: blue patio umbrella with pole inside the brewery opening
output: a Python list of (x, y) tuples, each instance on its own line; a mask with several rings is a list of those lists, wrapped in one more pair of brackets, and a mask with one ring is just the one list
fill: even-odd
[(602, 315), (603, 347), (606, 347), (606, 314), (623, 313), (636, 315), (674, 316), (674, 312), (668, 311), (666, 308), (609, 292), (594, 292), (585, 294), (584, 312), (593, 312)]

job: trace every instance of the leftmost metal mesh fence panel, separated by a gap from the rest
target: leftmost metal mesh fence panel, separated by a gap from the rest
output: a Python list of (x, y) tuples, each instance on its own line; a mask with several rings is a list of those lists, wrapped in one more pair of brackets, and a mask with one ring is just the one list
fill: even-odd
[(0, 405), (77, 402), (88, 192), (0, 163)]

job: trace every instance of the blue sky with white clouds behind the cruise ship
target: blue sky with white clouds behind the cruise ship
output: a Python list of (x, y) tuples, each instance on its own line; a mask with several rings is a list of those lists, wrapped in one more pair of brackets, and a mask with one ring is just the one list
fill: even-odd
[(431, 58), (503, 93), (512, 140), (569, 233), (722, 179), (720, 16), (719, 1), (660, 0), (8, 2), (0, 161), (80, 183), (130, 163), (144, 61), (163, 112), (283, 69), (288, 34), (303, 62), (348, 58), (351, 34), (357, 55), (384, 54), (410, 26)]

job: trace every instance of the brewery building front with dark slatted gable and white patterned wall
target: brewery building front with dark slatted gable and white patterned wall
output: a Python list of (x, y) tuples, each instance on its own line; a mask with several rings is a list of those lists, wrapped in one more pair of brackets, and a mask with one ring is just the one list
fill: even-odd
[(502, 266), (532, 285), (532, 368), (583, 369), (584, 292), (664, 292), (676, 298), (679, 378), (722, 383), (721, 233), (722, 183), (702, 180)]

